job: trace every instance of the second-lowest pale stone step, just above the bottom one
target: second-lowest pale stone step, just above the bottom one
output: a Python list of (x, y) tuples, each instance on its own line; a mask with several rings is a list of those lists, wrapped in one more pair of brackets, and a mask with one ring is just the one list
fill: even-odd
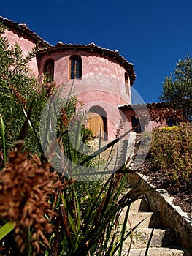
[[(123, 243), (123, 248), (146, 248), (152, 228), (138, 228), (133, 232), (132, 239), (129, 236)], [(132, 242), (131, 242), (132, 240)], [(171, 229), (154, 229), (153, 236), (150, 241), (150, 247), (173, 246), (174, 236)]]

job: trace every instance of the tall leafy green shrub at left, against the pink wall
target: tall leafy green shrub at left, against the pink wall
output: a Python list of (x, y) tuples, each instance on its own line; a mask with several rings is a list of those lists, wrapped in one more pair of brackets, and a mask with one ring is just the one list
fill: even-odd
[[(26, 119), (24, 111), (27, 112), (31, 102), (33, 102), (31, 119), (38, 131), (47, 89), (37, 83), (28, 69), (28, 61), (34, 57), (36, 49), (34, 48), (23, 57), (18, 44), (10, 46), (8, 39), (1, 36), (5, 29), (0, 23), (0, 114), (4, 121), (6, 149), (9, 149), (18, 138)], [(34, 132), (30, 130), (26, 138), (26, 148), (31, 153), (39, 152), (34, 137)], [(0, 142), (0, 150), (1, 148)]]

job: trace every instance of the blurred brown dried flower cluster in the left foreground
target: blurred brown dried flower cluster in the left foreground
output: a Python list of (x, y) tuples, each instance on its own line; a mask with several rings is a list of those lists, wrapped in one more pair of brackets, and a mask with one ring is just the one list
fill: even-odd
[(55, 213), (48, 200), (54, 189), (61, 186), (57, 179), (58, 174), (51, 173), (49, 165), (42, 165), (37, 156), (28, 159), (26, 153), (9, 153), (9, 162), (1, 174), (0, 212), (1, 217), (15, 225), (20, 252), (25, 249), (25, 232), (29, 227), (34, 230), (31, 235), (34, 255), (41, 252), (39, 241), (49, 246), (45, 233), (51, 233), (53, 226), (47, 217)]

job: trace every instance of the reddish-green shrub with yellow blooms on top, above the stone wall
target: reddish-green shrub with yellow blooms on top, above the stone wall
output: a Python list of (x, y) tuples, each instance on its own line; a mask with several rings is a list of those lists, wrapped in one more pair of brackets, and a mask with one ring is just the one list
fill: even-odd
[(177, 190), (192, 188), (192, 129), (188, 124), (155, 128), (150, 157)]

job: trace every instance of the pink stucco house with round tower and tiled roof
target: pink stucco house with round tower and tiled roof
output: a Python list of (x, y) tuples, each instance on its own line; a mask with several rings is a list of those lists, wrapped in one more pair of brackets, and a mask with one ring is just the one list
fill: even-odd
[[(141, 108), (139, 105), (134, 106), (134, 110), (131, 107), (131, 86), (136, 75), (134, 65), (120, 56), (118, 50), (101, 48), (93, 42), (88, 45), (58, 42), (53, 46), (25, 24), (2, 17), (0, 22), (7, 26), (4, 36), (10, 45), (17, 42), (24, 55), (39, 44), (37, 56), (29, 63), (32, 74), (39, 83), (48, 76), (58, 87), (63, 84), (73, 86), (85, 111), (90, 111), (88, 127), (94, 135), (98, 135), (101, 130), (104, 140), (115, 139), (122, 121), (120, 132), (131, 129)], [(155, 125), (146, 124), (143, 128), (150, 130)]]

